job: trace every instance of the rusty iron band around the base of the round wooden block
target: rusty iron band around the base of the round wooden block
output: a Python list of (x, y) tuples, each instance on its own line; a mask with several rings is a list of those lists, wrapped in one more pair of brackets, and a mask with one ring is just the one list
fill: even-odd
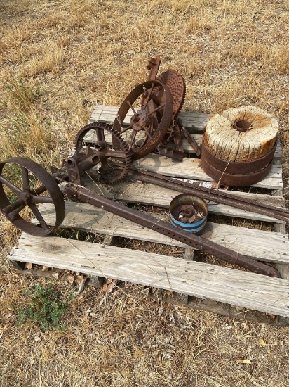
[(262, 158), (235, 163), (218, 158), (203, 144), (201, 167), (207, 175), (220, 182), (220, 184), (250, 186), (260, 182), (268, 175), (273, 163), (276, 145), (277, 141), (271, 151)]

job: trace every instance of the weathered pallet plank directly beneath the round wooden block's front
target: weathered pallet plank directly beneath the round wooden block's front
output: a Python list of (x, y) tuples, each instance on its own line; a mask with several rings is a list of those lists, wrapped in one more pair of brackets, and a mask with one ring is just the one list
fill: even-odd
[[(135, 160), (133, 164), (140, 169), (157, 172), (161, 175), (181, 177), (183, 179), (206, 180), (208, 182), (213, 181), (203, 172), (199, 165), (200, 160), (196, 158), (184, 158), (180, 162), (160, 155), (149, 154), (141, 160)], [(267, 177), (253, 186), (257, 188), (281, 189), (283, 187), (281, 165), (273, 165)]]

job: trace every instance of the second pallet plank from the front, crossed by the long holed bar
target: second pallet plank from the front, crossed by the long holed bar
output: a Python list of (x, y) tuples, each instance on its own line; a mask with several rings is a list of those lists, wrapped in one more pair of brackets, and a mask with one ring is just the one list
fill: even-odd
[[(95, 208), (93, 205), (69, 201), (66, 201), (65, 205), (66, 215), (61, 227), (162, 243), (170, 246), (187, 247), (184, 243), (141, 227), (101, 208)], [(39, 210), (48, 224), (55, 224), (54, 205), (41, 204)], [(154, 214), (152, 215), (154, 216)], [(156, 218), (159, 217), (156, 216)], [(289, 263), (288, 235), (285, 233), (281, 234), (208, 222), (202, 236), (221, 246), (231, 248), (238, 253), (249, 255), (258, 260)]]

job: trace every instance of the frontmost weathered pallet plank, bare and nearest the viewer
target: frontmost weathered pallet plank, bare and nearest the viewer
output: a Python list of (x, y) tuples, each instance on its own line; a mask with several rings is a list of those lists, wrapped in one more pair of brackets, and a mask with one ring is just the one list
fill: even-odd
[(289, 317), (289, 281), (166, 255), (22, 234), (10, 259), (117, 278)]

